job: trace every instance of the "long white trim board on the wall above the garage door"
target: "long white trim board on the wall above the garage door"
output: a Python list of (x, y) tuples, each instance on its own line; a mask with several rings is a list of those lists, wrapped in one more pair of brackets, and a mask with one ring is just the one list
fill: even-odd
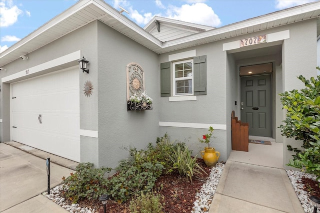
[(3, 78), (1, 78), (1, 82), (2, 83), (5, 83), (5, 82), (9, 83), (13, 80), (18, 80), (18, 79), (23, 78), (27, 75), (35, 74), (35, 73), (40, 75), (41, 72), (44, 70), (47, 70), (47, 69), (50, 69), (50, 68), (53, 68), (53, 67), (56, 67), (56, 66), (59, 66), (62, 64), (66, 64), (68, 62), (78, 60), (80, 57), (81, 57), (81, 51), (78, 50), (78, 51), (72, 52), (70, 54), (67, 54), (67, 55), (55, 58), (53, 60), (44, 62), (42, 64), (38, 64), (34, 67), (30, 67), (28, 69), (16, 72), (12, 75), (8, 75), (6, 77), (3, 77)]

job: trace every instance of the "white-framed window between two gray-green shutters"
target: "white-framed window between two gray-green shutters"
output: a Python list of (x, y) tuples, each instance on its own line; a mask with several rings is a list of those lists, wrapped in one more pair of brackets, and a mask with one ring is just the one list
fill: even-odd
[(193, 94), (193, 59), (173, 62), (173, 94)]

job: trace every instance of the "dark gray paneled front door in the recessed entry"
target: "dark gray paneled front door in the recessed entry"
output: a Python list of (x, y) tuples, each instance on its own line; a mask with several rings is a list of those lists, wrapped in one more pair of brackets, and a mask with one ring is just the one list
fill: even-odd
[(241, 77), (241, 121), (249, 135), (272, 137), (271, 75)]

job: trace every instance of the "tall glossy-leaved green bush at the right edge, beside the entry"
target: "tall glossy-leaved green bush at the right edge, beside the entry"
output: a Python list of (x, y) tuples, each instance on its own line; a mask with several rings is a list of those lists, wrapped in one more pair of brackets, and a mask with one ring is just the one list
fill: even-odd
[[(319, 67), (317, 69), (320, 70)], [(280, 125), (283, 136), (303, 141), (304, 150), (287, 146), (296, 154), (288, 166), (304, 168), (302, 171), (320, 175), (320, 76), (306, 80), (298, 77), (306, 86), (300, 91), (292, 90), (281, 93), (283, 108), (287, 110), (285, 125)]]

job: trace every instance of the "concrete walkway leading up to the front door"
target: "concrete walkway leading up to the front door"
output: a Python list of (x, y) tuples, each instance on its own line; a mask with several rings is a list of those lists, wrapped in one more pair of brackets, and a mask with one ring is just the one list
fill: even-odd
[(304, 213), (282, 168), (282, 144), (231, 151), (209, 213)]

